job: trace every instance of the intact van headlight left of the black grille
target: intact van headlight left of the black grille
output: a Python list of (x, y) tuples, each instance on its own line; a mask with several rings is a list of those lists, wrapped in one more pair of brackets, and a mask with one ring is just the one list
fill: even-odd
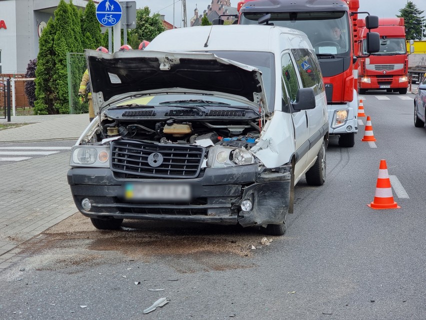
[(71, 148), (71, 167), (109, 168), (109, 147), (73, 146)]

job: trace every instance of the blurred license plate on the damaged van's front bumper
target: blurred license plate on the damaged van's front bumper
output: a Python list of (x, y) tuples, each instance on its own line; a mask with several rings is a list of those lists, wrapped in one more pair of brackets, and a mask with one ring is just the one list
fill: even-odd
[(148, 201), (189, 201), (191, 188), (188, 184), (177, 183), (127, 183), (124, 185), (127, 200)]

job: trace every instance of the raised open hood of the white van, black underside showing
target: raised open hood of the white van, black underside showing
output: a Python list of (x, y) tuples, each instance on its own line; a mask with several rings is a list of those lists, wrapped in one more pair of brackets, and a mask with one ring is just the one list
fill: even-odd
[[(244, 98), (268, 113), (259, 69), (210, 53), (85, 50), (93, 102), (126, 93), (203, 91)], [(183, 90), (183, 91), (184, 91)], [(96, 100), (96, 101), (95, 101)], [(99, 108), (100, 109), (100, 108)]]

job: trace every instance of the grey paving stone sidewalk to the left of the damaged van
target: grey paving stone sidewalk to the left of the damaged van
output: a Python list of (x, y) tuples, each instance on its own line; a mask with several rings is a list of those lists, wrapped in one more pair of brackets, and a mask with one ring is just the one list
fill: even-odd
[[(76, 140), (88, 124), (88, 114), (12, 118), (30, 124), (0, 130), (0, 142)], [(20, 244), (77, 212), (68, 159), (69, 152), (0, 167), (0, 271), (21, 258)]]

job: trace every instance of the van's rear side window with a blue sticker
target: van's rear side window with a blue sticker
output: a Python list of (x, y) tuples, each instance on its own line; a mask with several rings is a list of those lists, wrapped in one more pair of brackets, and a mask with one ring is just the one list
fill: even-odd
[(319, 69), (319, 64), (312, 52), (307, 49), (291, 49), (300, 72), (303, 88), (312, 88), (315, 95), (323, 91), (324, 86)]

